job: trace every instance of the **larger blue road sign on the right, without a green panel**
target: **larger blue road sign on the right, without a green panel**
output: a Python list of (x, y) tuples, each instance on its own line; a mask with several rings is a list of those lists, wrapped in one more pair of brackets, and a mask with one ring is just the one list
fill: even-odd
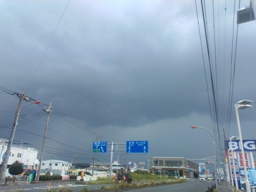
[(126, 141), (126, 153), (148, 153), (148, 141)]

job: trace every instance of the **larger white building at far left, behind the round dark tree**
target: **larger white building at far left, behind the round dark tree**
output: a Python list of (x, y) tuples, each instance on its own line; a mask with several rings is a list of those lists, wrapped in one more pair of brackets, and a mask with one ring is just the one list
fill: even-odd
[[(7, 150), (8, 140), (0, 139), (0, 164), (3, 162), (3, 157)], [(34, 168), (37, 149), (35, 148), (26, 148), (21, 146), (12, 145), (11, 154), (8, 159), (7, 165), (13, 164), (15, 161), (19, 161), (27, 168)]]

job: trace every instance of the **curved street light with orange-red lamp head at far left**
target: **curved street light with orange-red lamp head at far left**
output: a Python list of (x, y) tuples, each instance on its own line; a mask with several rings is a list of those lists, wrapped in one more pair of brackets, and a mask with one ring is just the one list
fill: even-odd
[[(23, 93), (23, 92), (22, 92)], [(21, 102), (21, 100), (20, 100)], [(37, 104), (37, 103), (40, 103), (40, 101), (35, 101), (33, 103), (28, 103), (26, 105), (23, 105), (21, 108), (27, 106), (27, 105), (30, 105), (30, 104)], [(7, 164), (8, 164), (8, 160), (9, 160), (9, 157), (10, 157), (10, 154), (11, 154), (11, 149), (12, 149), (12, 143), (13, 143), (13, 138), (14, 138), (14, 134), (15, 134), (15, 130), (16, 130), (16, 126), (18, 124), (18, 118), (19, 118), (19, 115), (20, 115), (20, 109), (21, 108), (18, 108), (18, 113), (17, 113), (17, 116), (15, 116), (15, 119), (14, 119), (14, 127), (12, 129), (12, 132), (11, 132), (11, 135), (10, 135), (10, 139), (9, 139), (9, 143), (8, 143), (8, 146), (7, 146), (7, 149), (6, 149), (6, 156), (4, 158), (4, 161), (3, 161), (3, 164), (2, 164), (2, 168), (1, 168), (1, 172), (0, 172), (0, 179), (4, 179), (5, 178), (5, 172), (6, 172), (6, 168), (7, 168)], [(10, 141), (11, 140), (11, 141)]]

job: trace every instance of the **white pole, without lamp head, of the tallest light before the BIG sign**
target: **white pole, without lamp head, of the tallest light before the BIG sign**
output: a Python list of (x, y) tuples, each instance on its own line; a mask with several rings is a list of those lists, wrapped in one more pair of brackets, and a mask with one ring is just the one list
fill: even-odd
[(241, 152), (242, 152), (242, 157), (243, 157), (243, 164), (244, 164), (244, 175), (245, 175), (246, 192), (251, 192), (250, 183), (249, 183), (248, 175), (247, 175), (247, 168), (246, 168), (246, 164), (245, 164), (244, 144), (243, 144), (243, 139), (242, 139), (242, 133), (241, 133), (239, 116), (238, 116), (237, 104), (235, 104), (235, 111), (236, 111), (236, 122), (237, 122), (237, 127), (238, 127), (239, 140), (240, 140), (240, 145), (241, 145)]

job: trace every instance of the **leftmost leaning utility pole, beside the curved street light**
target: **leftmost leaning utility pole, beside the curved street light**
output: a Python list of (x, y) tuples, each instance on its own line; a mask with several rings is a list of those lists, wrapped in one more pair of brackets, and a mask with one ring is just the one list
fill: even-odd
[(28, 97), (26, 95), (23, 95), (23, 93), (24, 93), (24, 90), (22, 90), (22, 93), (18, 95), (20, 100), (19, 100), (18, 108), (17, 108), (16, 114), (15, 114), (14, 122), (13, 122), (13, 125), (12, 125), (12, 131), (11, 131), (10, 138), (9, 138), (9, 141), (8, 141), (8, 146), (7, 146), (7, 149), (6, 149), (6, 152), (5, 152), (5, 158), (3, 160), (3, 164), (2, 164), (2, 168), (1, 168), (1, 172), (0, 172), (0, 179), (5, 179), (5, 172), (6, 172), (8, 160), (9, 160), (10, 153), (11, 153), (13, 136), (14, 136), (14, 133), (15, 133), (17, 119), (18, 119), (18, 116), (19, 116), (21, 101), (22, 100), (28, 100)]

